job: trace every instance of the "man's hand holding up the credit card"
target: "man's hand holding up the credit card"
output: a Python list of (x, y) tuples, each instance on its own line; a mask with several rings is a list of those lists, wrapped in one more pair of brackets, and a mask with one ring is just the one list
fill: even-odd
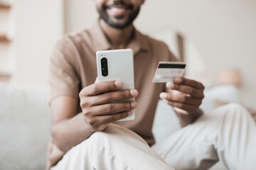
[(161, 93), (160, 98), (170, 106), (173, 106), (176, 113), (183, 115), (181, 116), (182, 118), (189, 119), (185, 120), (186, 123), (183, 124), (187, 125), (198, 117), (196, 116), (198, 108), (204, 98), (203, 84), (184, 77), (176, 77), (174, 82), (166, 83), (166, 88), (167, 92)]

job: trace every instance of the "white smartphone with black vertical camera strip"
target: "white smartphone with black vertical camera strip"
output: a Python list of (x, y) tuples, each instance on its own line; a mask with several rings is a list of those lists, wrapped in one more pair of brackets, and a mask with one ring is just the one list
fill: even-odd
[[(134, 56), (131, 49), (124, 50), (105, 50), (96, 53), (97, 77), (102, 81), (122, 81), (122, 89), (134, 89)], [(120, 90), (122, 90), (120, 89)], [(135, 98), (129, 98), (118, 103), (135, 101)], [(135, 111), (127, 118), (118, 120), (134, 120)]]

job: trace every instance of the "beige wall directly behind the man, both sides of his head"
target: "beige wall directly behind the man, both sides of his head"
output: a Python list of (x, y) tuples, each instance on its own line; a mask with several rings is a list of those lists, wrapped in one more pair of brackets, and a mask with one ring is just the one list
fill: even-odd
[[(97, 18), (92, 0), (65, 0), (65, 31), (86, 26)], [(255, 0), (147, 0), (136, 21), (139, 30), (171, 27), (198, 48), (206, 73), (215, 81), (219, 69), (239, 68), (241, 98), (256, 106)]]

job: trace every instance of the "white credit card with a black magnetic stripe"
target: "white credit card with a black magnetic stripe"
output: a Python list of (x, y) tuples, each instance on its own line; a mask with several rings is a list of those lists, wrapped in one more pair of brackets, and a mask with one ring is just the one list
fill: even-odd
[(174, 77), (183, 77), (185, 62), (159, 62), (154, 74), (154, 83), (174, 81)]

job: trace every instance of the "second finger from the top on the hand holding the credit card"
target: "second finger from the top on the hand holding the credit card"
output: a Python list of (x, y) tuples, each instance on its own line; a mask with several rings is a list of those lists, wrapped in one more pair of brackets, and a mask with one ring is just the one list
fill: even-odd
[(177, 84), (174, 84), (174, 82), (168, 82), (166, 84), (166, 87), (168, 89), (173, 89), (173, 90), (176, 90), (176, 91), (181, 91), (184, 94), (189, 94), (190, 96), (192, 96), (194, 98), (204, 98), (203, 90), (198, 90), (198, 89), (195, 89), (195, 88), (193, 88), (191, 86), (177, 85)]

